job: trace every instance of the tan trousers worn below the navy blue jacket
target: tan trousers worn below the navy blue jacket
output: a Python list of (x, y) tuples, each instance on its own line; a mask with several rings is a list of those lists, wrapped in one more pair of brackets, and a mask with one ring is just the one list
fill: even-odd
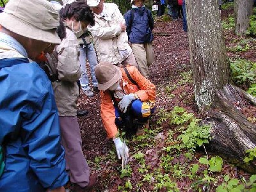
[(138, 63), (138, 69), (140, 70), (140, 73), (148, 79), (148, 67), (154, 61), (152, 42), (147, 44), (132, 44), (132, 51)]

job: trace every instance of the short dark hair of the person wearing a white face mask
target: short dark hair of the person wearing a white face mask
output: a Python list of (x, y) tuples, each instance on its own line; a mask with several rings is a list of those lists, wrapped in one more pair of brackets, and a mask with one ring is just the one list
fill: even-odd
[(60, 17), (61, 19), (71, 19), (74, 17), (77, 21), (87, 22), (90, 26), (95, 25), (93, 12), (84, 0), (66, 4), (65, 7), (60, 10)]

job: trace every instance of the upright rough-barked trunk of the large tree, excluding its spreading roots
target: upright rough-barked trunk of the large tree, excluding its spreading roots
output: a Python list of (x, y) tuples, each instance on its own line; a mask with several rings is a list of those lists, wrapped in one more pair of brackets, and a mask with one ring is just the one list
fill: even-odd
[(196, 105), (209, 106), (214, 92), (230, 82), (230, 65), (216, 0), (186, 1), (190, 60)]

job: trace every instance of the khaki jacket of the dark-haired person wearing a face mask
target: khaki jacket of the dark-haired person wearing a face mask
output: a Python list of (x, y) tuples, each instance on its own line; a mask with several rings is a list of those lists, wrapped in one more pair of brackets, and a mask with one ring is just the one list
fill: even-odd
[[(60, 116), (77, 115), (79, 90), (77, 80), (81, 76), (79, 63), (79, 43), (76, 35), (66, 28), (67, 36), (54, 49), (58, 56), (59, 81), (52, 82), (54, 96)], [(49, 61), (51, 62), (51, 61)]]

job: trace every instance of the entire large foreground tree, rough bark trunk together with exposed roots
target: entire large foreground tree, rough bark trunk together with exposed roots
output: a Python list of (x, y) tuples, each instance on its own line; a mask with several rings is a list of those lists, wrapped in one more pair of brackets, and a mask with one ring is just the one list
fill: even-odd
[(207, 114), (204, 123), (212, 125), (208, 149), (256, 173), (255, 162), (243, 163), (246, 150), (256, 147), (256, 125), (234, 105), (243, 107), (244, 98), (252, 104), (255, 100), (230, 85), (218, 1), (188, 0), (186, 9), (196, 105)]

